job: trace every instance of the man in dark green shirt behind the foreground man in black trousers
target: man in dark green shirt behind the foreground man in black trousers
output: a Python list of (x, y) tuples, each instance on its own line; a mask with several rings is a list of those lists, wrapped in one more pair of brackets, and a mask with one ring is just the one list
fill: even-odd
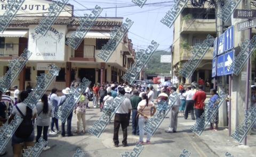
[(131, 104), (132, 104), (132, 135), (138, 135), (139, 136), (139, 125), (138, 125), (138, 118), (137, 117), (137, 108), (138, 104), (142, 99), (139, 97), (138, 90), (133, 90), (133, 96), (131, 98)]

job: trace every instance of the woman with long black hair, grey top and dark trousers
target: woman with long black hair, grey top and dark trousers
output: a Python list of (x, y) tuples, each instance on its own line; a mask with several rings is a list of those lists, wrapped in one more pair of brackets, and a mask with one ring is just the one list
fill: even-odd
[[(39, 141), (43, 130), (43, 138), (47, 141), (47, 133), (50, 125), (50, 118), (52, 117), (52, 105), (48, 102), (48, 95), (44, 94), (41, 98), (41, 102), (36, 104), (37, 109), (37, 118), (36, 118), (36, 127), (37, 127), (37, 135), (36, 142)], [(50, 146), (46, 146), (43, 148), (44, 151), (49, 150)]]

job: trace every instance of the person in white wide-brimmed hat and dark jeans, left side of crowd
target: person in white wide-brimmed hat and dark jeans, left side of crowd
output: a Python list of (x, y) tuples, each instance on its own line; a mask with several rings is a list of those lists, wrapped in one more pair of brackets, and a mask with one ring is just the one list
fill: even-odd
[[(58, 107), (60, 107), (67, 99), (68, 97), (68, 94), (71, 94), (70, 93), (70, 89), (69, 88), (66, 88), (66, 89), (63, 89), (62, 90), (62, 93), (64, 95), (62, 95), (59, 99), (59, 103), (58, 103)], [(71, 133), (71, 121), (72, 121), (72, 116), (73, 116), (73, 112), (70, 112), (68, 118), (67, 118), (67, 133), (68, 133), (68, 136), (73, 136), (73, 134)], [(65, 123), (66, 123), (65, 121)], [(64, 137), (66, 132), (65, 132), (65, 123), (61, 123), (61, 136)]]

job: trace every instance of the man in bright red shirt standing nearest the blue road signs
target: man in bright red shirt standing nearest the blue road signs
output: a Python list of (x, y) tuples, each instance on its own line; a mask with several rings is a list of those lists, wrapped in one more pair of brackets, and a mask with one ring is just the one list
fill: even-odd
[(204, 86), (199, 85), (198, 91), (195, 93), (193, 99), (195, 101), (195, 114), (196, 119), (200, 118), (204, 112), (204, 101), (206, 99), (206, 93), (203, 91)]

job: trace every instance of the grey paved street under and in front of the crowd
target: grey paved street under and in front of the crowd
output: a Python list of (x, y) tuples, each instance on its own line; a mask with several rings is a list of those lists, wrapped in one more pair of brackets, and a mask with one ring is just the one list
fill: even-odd
[[(92, 103), (90, 102), (90, 106)], [(93, 121), (100, 116), (99, 109), (87, 109), (86, 111), (86, 129), (88, 130)], [(179, 116), (178, 132), (165, 133), (168, 128), (169, 118), (165, 118), (161, 127), (156, 134), (151, 138), (151, 145), (145, 145), (145, 149), (140, 156), (179, 156), (183, 149), (188, 150), (190, 156), (225, 156), (226, 152), (234, 156), (254, 156), (256, 135), (249, 135), (248, 144), (250, 147), (240, 147), (238, 142), (227, 136), (228, 130), (220, 128), (218, 132), (206, 130), (201, 136), (194, 135), (189, 128), (195, 123), (189, 117), (185, 120)], [(59, 124), (60, 125), (60, 124)], [(40, 156), (72, 156), (79, 148), (82, 149), (86, 156), (120, 156), (125, 151), (131, 152), (135, 143), (138, 142), (139, 136), (131, 134), (131, 125), (128, 127), (128, 147), (114, 147), (113, 138), (113, 121), (108, 125), (105, 132), (100, 138), (97, 138), (89, 133), (85, 135), (74, 134), (73, 137), (61, 137), (60, 135), (49, 136), (50, 150), (44, 151)], [(73, 115), (72, 130), (76, 130), (76, 115)], [(121, 136), (120, 136), (121, 135)], [(146, 139), (145, 139), (146, 140)], [(122, 144), (122, 130), (119, 130), (119, 141)], [(12, 147), (9, 142), (7, 146), (8, 154), (12, 156)]]

